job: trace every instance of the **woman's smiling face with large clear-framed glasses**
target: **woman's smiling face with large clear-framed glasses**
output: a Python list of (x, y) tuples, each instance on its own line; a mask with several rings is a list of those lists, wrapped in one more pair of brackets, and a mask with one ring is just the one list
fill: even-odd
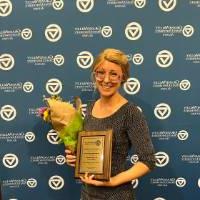
[(95, 69), (94, 77), (100, 95), (111, 97), (118, 92), (123, 73), (121, 66), (105, 60)]

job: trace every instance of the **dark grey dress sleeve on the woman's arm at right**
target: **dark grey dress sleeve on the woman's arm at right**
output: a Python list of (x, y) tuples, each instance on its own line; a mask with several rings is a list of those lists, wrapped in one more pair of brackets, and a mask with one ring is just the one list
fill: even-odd
[(139, 161), (155, 168), (155, 151), (150, 138), (149, 128), (142, 112), (133, 104), (127, 109), (126, 127), (132, 148), (138, 155)]

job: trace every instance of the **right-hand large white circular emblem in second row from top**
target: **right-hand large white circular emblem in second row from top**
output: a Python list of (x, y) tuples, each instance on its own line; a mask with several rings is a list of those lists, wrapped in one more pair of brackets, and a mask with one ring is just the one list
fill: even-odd
[(129, 40), (138, 40), (142, 35), (142, 27), (137, 22), (131, 22), (126, 25), (125, 35)]

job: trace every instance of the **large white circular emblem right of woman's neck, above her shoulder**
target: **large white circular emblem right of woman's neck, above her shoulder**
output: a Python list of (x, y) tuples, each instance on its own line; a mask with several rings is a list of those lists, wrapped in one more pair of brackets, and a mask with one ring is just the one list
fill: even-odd
[(129, 78), (124, 83), (124, 90), (128, 94), (136, 94), (140, 91), (140, 82), (136, 78)]

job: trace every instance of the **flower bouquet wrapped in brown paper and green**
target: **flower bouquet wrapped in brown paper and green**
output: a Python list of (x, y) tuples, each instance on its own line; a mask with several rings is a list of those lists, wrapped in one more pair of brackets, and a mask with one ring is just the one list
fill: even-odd
[(39, 116), (58, 133), (59, 143), (64, 143), (72, 152), (76, 151), (78, 133), (83, 129), (81, 99), (74, 100), (75, 107), (59, 96), (44, 97), (47, 106), (38, 109)]

